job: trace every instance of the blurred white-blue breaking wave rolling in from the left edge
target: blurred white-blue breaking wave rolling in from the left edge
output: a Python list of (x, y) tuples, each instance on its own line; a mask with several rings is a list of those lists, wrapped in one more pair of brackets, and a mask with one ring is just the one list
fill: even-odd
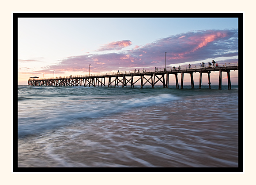
[(172, 94), (160, 94), (157, 96), (130, 98), (125, 100), (113, 100), (106, 98), (95, 98), (95, 101), (83, 102), (80, 104), (60, 105), (52, 109), (45, 109), (37, 117), (26, 115), (18, 117), (18, 138), (29, 134), (39, 134), (57, 127), (73, 123), (81, 123), (88, 119), (95, 119), (102, 116), (135, 109), (139, 107), (164, 104), (177, 100)]

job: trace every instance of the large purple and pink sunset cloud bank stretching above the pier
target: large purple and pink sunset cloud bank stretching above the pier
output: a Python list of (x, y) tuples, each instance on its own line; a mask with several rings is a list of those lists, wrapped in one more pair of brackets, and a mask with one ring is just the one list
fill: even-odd
[[(98, 51), (120, 50), (131, 45), (130, 40), (113, 42), (102, 46)], [(163, 67), (165, 65), (197, 62), (217, 57), (238, 56), (238, 31), (200, 30), (169, 36), (141, 47), (121, 53), (84, 54), (60, 60), (58, 65), (47, 66), (42, 73), (55, 70), (64, 72), (102, 73), (107, 71), (134, 70), (135, 68)]]

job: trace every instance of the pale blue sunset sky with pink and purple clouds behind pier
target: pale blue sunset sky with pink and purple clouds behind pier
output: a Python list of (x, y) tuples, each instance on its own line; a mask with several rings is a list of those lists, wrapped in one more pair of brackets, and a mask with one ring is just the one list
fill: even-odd
[[(165, 52), (167, 68), (238, 62), (238, 18), (18, 19), (18, 85), (31, 76), (89, 74), (89, 65), (90, 73), (163, 68)], [(238, 71), (230, 76), (237, 85)], [(218, 72), (211, 83), (218, 85)], [(190, 77), (184, 76), (184, 85)]]

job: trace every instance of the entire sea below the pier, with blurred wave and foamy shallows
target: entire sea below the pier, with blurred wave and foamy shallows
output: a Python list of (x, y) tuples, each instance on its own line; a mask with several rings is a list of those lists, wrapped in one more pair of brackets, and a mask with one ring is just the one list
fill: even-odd
[(238, 167), (238, 86), (18, 86), (17, 125), (18, 167)]

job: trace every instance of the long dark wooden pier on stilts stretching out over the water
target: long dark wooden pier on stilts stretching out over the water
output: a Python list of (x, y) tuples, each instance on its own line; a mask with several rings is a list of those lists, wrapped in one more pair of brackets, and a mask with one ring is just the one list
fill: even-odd
[[(211, 88), (210, 73), (219, 71), (218, 89), (222, 89), (222, 72), (227, 73), (228, 89), (231, 89), (230, 71), (238, 70), (238, 62), (225, 63), (217, 65), (191, 65), (176, 66), (160, 69), (142, 69), (134, 71), (120, 71), (112, 73), (96, 73), (79, 76), (60, 76), (55, 78), (39, 79), (37, 76), (30, 77), (28, 86), (84, 86), (84, 87), (134, 87), (136, 82), (140, 82), (141, 88), (148, 82), (152, 88), (158, 82), (161, 82), (164, 88), (169, 87), (169, 78), (175, 76), (176, 88), (179, 89), (178, 73), (181, 73), (181, 89), (183, 89), (184, 73), (190, 74), (191, 88), (194, 88), (193, 73), (200, 73), (199, 88), (202, 86), (202, 73), (208, 74), (208, 85)], [(138, 76), (137, 80), (134, 76)], [(108, 83), (106, 83), (108, 81)]]

